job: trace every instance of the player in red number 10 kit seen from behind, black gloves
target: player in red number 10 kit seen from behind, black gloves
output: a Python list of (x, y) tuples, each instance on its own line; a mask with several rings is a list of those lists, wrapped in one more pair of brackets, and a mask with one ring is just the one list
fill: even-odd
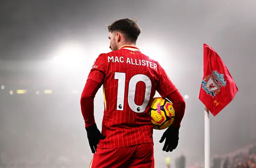
[[(160, 64), (136, 47), (140, 28), (135, 19), (117, 20), (108, 31), (112, 52), (98, 56), (80, 100), (94, 153), (90, 168), (154, 168), (150, 102), (157, 91), (173, 103), (174, 123), (160, 138), (160, 143), (165, 140), (162, 150), (171, 152), (178, 145), (184, 99)], [(104, 117), (100, 132), (94, 120), (94, 97), (102, 85)]]

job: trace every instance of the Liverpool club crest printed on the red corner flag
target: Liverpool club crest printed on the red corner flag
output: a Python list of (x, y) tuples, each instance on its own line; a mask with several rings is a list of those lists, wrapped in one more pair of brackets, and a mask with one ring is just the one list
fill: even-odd
[(226, 81), (224, 79), (224, 74), (220, 74), (217, 71), (212, 71), (212, 75), (208, 75), (202, 81), (202, 88), (207, 94), (214, 97), (220, 92), (221, 87), (226, 86)]

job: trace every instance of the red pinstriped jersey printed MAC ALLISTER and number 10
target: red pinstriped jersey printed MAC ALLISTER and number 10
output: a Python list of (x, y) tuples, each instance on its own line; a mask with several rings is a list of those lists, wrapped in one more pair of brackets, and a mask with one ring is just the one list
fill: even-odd
[(123, 46), (100, 54), (88, 79), (98, 80), (104, 73), (104, 117), (98, 148), (119, 148), (153, 143), (149, 116), (150, 102), (156, 91), (164, 98), (176, 91), (157, 61), (137, 47)]

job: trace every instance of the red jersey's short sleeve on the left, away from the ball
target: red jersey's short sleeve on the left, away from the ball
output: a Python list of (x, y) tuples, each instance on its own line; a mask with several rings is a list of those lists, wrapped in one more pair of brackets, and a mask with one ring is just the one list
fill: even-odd
[[(94, 61), (94, 65), (90, 70), (88, 79), (94, 80), (98, 83), (102, 83), (106, 75), (106, 61), (104, 54), (100, 54), (98, 58)], [(87, 80), (88, 80), (87, 79)]]

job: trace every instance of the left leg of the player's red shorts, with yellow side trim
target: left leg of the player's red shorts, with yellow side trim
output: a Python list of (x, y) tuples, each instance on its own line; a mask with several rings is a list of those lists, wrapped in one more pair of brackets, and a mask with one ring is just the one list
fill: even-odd
[(110, 149), (97, 148), (90, 168), (127, 168), (135, 150), (136, 148), (130, 146)]

